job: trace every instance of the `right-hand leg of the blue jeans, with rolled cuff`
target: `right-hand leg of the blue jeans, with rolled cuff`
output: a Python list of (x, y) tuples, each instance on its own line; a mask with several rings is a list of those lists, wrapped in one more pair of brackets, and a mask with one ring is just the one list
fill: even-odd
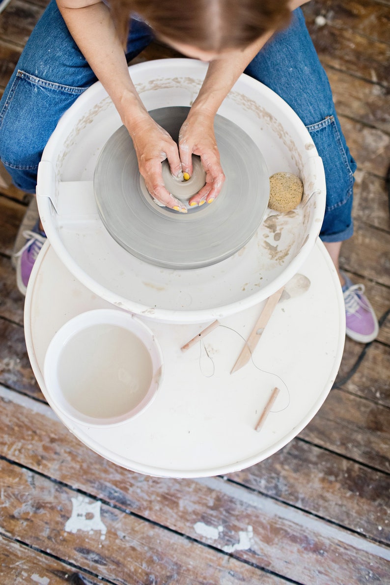
[(356, 163), (341, 131), (332, 90), (301, 9), (293, 12), (287, 29), (265, 44), (246, 73), (270, 87), (294, 109), (322, 157), (327, 192), (320, 237), (327, 242), (350, 238)]

